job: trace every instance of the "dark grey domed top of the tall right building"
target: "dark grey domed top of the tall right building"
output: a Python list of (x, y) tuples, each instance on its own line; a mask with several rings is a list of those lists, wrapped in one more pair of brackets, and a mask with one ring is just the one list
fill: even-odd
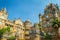
[(50, 3), (48, 6), (46, 6), (44, 13), (48, 14), (48, 13), (55, 13), (56, 10), (59, 10), (58, 6), (56, 4), (52, 4)]

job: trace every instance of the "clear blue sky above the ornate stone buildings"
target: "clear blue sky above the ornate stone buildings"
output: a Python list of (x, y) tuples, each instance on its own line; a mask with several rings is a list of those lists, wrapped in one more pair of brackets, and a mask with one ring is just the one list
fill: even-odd
[(60, 0), (0, 0), (0, 9), (6, 7), (8, 19), (20, 18), (22, 21), (30, 19), (32, 24), (39, 22), (39, 13), (44, 14), (44, 8), (49, 3), (58, 4)]

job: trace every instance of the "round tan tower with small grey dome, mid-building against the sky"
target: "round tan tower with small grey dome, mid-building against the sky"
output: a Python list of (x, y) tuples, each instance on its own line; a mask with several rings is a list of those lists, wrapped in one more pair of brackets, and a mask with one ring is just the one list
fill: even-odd
[(29, 19), (27, 19), (24, 23), (25, 26), (25, 40), (30, 40), (30, 28), (32, 27), (32, 23)]

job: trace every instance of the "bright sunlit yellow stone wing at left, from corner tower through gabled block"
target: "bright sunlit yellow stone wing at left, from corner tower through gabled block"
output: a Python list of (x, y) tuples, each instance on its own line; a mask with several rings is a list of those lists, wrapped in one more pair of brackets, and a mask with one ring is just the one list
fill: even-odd
[(10, 33), (4, 34), (2, 40), (7, 40), (10, 35), (16, 36), (17, 40), (25, 40), (24, 38), (24, 23), (20, 19), (11, 21), (8, 19), (6, 8), (0, 10), (0, 29), (10, 26)]

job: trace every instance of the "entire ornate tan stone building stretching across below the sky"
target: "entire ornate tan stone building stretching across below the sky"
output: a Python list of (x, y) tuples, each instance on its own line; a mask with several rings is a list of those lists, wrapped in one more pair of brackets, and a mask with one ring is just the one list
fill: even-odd
[(6, 8), (0, 10), (0, 29), (10, 26), (10, 32), (4, 34), (2, 40), (7, 40), (11, 35), (16, 40), (45, 40), (46, 33), (52, 35), (51, 40), (60, 40), (60, 24), (57, 22), (60, 22), (60, 9), (52, 3), (46, 6), (43, 15), (39, 14), (40, 25), (32, 25), (29, 19), (25, 22), (20, 18), (11, 21)]

